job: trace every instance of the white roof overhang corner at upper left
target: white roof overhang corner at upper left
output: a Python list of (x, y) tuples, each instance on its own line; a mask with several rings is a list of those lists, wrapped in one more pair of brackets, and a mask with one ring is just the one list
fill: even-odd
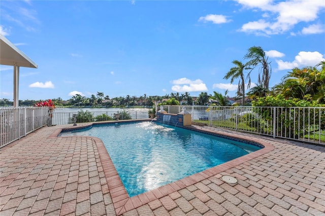
[(0, 64), (37, 68), (38, 65), (0, 34)]

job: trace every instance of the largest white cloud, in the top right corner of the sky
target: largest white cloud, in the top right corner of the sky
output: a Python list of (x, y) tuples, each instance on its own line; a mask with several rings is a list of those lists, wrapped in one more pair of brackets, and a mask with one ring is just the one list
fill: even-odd
[[(240, 31), (257, 35), (280, 34), (293, 29), (298, 23), (316, 21), (318, 13), (325, 8), (323, 0), (285, 2), (239, 0), (238, 3), (244, 9), (265, 12), (262, 14), (263, 19), (245, 23), (240, 29)], [(266, 15), (266, 13), (268, 14)], [(318, 33), (319, 27), (311, 26), (311, 29), (307, 27), (303, 31), (316, 31)]]

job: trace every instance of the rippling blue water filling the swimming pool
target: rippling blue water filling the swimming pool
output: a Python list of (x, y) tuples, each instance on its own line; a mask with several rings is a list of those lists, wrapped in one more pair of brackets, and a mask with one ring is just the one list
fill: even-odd
[(102, 139), (130, 197), (261, 148), (159, 123), (93, 126), (60, 136)]

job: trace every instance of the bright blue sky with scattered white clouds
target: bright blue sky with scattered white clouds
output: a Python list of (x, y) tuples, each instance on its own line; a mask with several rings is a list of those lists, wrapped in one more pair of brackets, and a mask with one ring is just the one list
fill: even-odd
[[(38, 64), (20, 68), (19, 99), (66, 100), (213, 91), (252, 46), (272, 66), (270, 87), (294, 67), (325, 60), (325, 2), (1, 1), (0, 32)], [(258, 67), (251, 73), (254, 86)], [(13, 99), (1, 65), (0, 97)]]

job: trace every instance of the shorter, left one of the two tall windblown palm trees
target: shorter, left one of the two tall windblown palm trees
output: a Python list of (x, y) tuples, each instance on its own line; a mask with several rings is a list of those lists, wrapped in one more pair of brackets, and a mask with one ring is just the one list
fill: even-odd
[[(242, 94), (243, 96), (243, 101), (242, 101), (242, 105), (244, 106), (245, 104), (245, 76), (244, 76), (244, 70), (248, 70), (251, 69), (249, 67), (249, 64), (243, 64), (241, 61), (238, 60), (234, 60), (233, 63), (236, 65), (236, 67), (232, 67), (228, 73), (224, 76), (223, 79), (228, 80), (229, 78), (230, 83), (232, 84), (234, 82), (235, 79), (240, 78), (239, 82), (238, 82), (238, 90), (237, 90), (237, 94), (238, 96), (240, 96)], [(248, 80), (248, 84), (247, 84), (247, 88), (250, 87), (250, 71), (247, 74), (246, 80)]]

